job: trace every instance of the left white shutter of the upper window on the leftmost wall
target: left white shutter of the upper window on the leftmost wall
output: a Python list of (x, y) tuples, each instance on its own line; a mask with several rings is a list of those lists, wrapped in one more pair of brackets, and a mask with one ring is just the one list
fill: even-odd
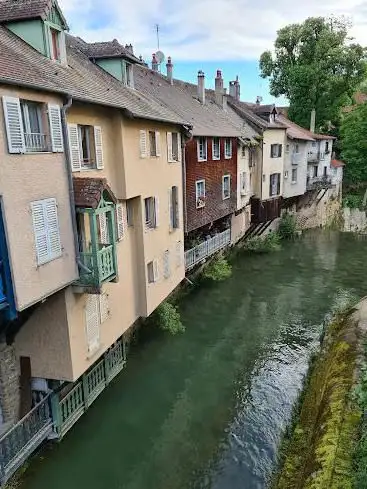
[(19, 99), (3, 97), (3, 107), (9, 153), (24, 153), (25, 143)]

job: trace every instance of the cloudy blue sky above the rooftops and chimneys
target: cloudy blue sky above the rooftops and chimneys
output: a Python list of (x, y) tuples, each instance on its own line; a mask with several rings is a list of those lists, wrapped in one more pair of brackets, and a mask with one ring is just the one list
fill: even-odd
[[(259, 76), (260, 54), (271, 49), (277, 30), (310, 16), (344, 15), (351, 35), (367, 45), (367, 0), (59, 0), (70, 32), (84, 40), (118, 39), (151, 61), (157, 50), (172, 57), (174, 77), (196, 82), (199, 69), (213, 88), (217, 69), (225, 86), (239, 76), (241, 99), (286, 103), (269, 94)], [(164, 63), (165, 65), (165, 63)], [(165, 66), (162, 71), (165, 72)]]

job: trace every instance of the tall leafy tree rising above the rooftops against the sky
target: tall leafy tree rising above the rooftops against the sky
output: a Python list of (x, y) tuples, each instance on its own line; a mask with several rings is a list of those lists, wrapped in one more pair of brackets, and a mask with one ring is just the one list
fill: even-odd
[(288, 98), (297, 124), (308, 128), (315, 108), (316, 128), (328, 127), (365, 79), (366, 50), (350, 42), (349, 28), (343, 18), (310, 17), (280, 29), (274, 53), (261, 55), (261, 76), (270, 78), (272, 95)]

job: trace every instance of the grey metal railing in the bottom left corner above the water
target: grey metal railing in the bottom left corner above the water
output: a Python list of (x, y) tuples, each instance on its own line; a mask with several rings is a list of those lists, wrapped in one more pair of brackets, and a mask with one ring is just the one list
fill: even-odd
[(53, 430), (50, 394), (0, 438), (0, 484), (24, 463)]

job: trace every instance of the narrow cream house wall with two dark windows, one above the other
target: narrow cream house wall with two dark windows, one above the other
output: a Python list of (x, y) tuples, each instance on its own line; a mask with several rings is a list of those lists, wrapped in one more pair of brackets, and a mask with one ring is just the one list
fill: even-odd
[[(271, 158), (271, 145), (282, 145), (282, 156), (280, 158)], [(283, 193), (284, 182), (284, 154), (286, 144), (285, 129), (267, 129), (263, 135), (263, 164), (262, 164), (262, 200), (279, 197)], [(270, 196), (269, 185), (270, 175), (272, 173), (280, 173), (280, 193), (277, 196)]]

